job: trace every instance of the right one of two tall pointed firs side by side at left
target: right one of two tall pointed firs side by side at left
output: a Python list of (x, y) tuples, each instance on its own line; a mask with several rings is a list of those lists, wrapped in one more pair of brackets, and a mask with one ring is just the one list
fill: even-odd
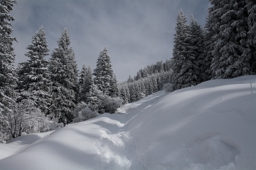
[(64, 29), (50, 58), (49, 71), (53, 87), (50, 111), (55, 117), (69, 114), (75, 108), (78, 94), (78, 70), (75, 63), (75, 53), (70, 47), (67, 28)]

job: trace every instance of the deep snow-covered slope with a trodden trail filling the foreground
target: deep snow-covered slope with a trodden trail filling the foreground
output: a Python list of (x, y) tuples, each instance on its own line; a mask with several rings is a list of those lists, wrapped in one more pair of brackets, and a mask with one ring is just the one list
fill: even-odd
[(0, 158), (1, 170), (256, 169), (256, 76), (159, 91), (116, 114), (0, 144)]

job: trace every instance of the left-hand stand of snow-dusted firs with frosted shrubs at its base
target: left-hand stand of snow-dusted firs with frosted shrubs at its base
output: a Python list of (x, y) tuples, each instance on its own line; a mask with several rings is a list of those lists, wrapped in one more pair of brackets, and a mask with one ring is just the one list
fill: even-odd
[[(11, 37), (15, 0), (0, 1), (0, 142), (22, 134), (50, 131), (61, 122), (79, 122), (120, 107), (116, 76), (106, 47), (97, 68), (83, 66), (78, 75), (67, 28), (49, 55), (42, 26), (26, 47), (27, 61), (15, 68)], [(93, 77), (94, 76), (94, 77)]]

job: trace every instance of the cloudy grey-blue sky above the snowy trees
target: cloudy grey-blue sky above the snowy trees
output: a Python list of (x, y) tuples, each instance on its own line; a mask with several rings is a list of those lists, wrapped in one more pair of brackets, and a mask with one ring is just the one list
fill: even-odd
[[(11, 14), (15, 66), (27, 61), (26, 47), (43, 26), (50, 54), (64, 28), (75, 51), (78, 70), (96, 68), (97, 58), (108, 49), (118, 82), (134, 77), (139, 69), (172, 58), (178, 9), (201, 26), (208, 0), (18, 0)], [(47, 56), (47, 59), (50, 55)]]

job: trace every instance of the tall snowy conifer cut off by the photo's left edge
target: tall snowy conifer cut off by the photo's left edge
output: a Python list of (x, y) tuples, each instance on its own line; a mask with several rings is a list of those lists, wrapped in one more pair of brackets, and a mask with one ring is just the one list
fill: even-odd
[(10, 21), (14, 17), (10, 15), (16, 0), (0, 1), (0, 139), (6, 140), (8, 136), (7, 118), (12, 113), (15, 106), (15, 86), (17, 78), (15, 67), (14, 48), (12, 42), (15, 38), (12, 34), (12, 24)]

